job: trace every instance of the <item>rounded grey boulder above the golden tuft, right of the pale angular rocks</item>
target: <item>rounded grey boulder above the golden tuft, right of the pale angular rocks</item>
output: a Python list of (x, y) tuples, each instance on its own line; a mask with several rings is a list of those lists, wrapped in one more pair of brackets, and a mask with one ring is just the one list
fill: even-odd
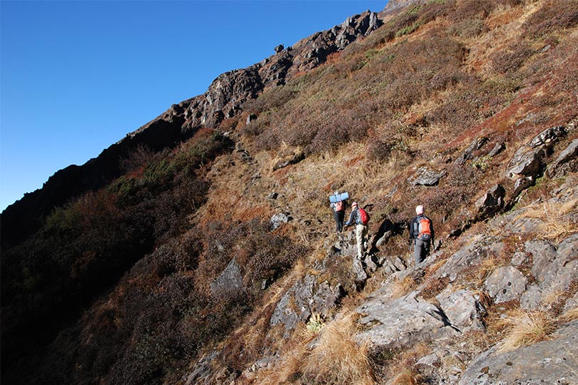
[(485, 281), (485, 289), (495, 303), (519, 299), (528, 279), (513, 266), (498, 267)]

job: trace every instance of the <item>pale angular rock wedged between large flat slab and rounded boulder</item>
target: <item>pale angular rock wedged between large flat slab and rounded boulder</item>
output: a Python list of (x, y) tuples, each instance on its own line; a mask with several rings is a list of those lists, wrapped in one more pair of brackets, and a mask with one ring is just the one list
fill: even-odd
[(467, 289), (452, 292), (446, 289), (435, 297), (440, 302), (440, 308), (450, 323), (461, 332), (470, 330), (485, 330), (482, 317), (486, 309)]

